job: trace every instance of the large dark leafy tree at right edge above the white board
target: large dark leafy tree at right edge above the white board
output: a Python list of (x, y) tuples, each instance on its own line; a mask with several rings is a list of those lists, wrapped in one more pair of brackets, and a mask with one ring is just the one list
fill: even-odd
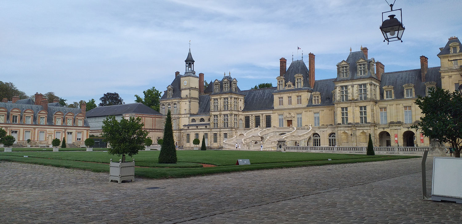
[(462, 148), (462, 94), (432, 88), (428, 96), (419, 96), (415, 104), (425, 116), (413, 128), (421, 129), (424, 136), (439, 143), (448, 143), (460, 158)]

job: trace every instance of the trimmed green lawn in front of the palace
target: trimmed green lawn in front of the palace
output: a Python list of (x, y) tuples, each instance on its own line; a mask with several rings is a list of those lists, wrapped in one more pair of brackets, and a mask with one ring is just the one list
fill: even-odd
[[(61, 149), (60, 149), (61, 150)], [(391, 156), (335, 153), (180, 150), (177, 164), (158, 164), (160, 151), (140, 151), (133, 157), (135, 175), (149, 178), (190, 177), (231, 171), (248, 171), (271, 168), (286, 168), (311, 165), (328, 165), (408, 159), (418, 156)], [(28, 157), (24, 157), (24, 156)], [(109, 172), (109, 160), (118, 161), (117, 156), (107, 152), (0, 152), (0, 160), (38, 165), (76, 168), (94, 172)], [(252, 165), (235, 165), (237, 159), (250, 159)], [(332, 160), (328, 160), (332, 159)], [(127, 157), (127, 160), (131, 158)], [(202, 167), (201, 164), (217, 165)]]

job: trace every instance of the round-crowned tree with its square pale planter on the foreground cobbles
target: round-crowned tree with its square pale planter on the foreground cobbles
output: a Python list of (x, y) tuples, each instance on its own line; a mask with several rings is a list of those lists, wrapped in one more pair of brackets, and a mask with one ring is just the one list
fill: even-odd
[(148, 132), (143, 130), (143, 126), (139, 117), (122, 118), (118, 121), (115, 116), (108, 116), (103, 121), (102, 136), (110, 143), (108, 153), (122, 156), (119, 162), (110, 160), (109, 181), (122, 183), (124, 180), (135, 180), (135, 159), (126, 162), (125, 155), (132, 157), (144, 148)]

